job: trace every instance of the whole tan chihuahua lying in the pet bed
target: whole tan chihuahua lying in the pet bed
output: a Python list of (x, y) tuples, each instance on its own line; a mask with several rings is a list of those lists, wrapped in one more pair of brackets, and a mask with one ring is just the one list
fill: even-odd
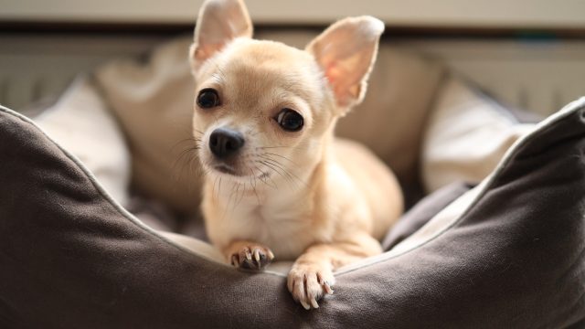
[(388, 168), (334, 137), (364, 98), (383, 30), (346, 18), (303, 51), (252, 39), (241, 0), (199, 12), (190, 60), (208, 237), (236, 267), (295, 260), (288, 290), (305, 309), (333, 292), (335, 269), (382, 251), (402, 211)]

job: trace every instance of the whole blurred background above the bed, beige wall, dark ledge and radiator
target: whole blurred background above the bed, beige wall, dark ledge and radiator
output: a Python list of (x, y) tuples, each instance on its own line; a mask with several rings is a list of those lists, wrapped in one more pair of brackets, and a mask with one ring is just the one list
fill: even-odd
[[(80, 72), (193, 31), (201, 0), (0, 0), (0, 103), (50, 99)], [(582, 0), (248, 0), (257, 30), (314, 29), (344, 16), (385, 21), (484, 90), (548, 114), (585, 95)]]

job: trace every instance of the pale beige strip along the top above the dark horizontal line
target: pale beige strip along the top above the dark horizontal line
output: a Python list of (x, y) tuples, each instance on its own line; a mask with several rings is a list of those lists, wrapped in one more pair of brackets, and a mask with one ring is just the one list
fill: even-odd
[[(202, 0), (0, 0), (2, 20), (187, 24)], [(248, 0), (256, 23), (324, 24), (374, 15), (388, 26), (585, 27), (583, 0)]]

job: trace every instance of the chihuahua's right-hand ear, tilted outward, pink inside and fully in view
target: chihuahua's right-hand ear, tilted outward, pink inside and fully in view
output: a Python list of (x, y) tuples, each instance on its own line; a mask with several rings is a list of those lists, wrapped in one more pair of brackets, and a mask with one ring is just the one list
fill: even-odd
[(306, 47), (323, 69), (337, 105), (345, 111), (364, 99), (384, 23), (372, 16), (348, 17)]

